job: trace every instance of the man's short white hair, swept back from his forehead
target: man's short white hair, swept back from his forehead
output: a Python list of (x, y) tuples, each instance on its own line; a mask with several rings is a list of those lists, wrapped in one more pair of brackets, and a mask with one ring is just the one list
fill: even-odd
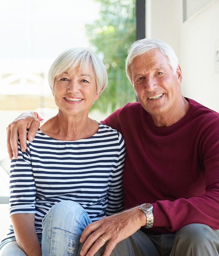
[(173, 73), (176, 73), (177, 66), (179, 64), (179, 60), (176, 57), (176, 53), (174, 52), (173, 48), (160, 40), (157, 39), (150, 39), (150, 38), (144, 38), (141, 40), (136, 41), (134, 44), (132, 44), (130, 48), (130, 52), (127, 56), (126, 59), (126, 64), (125, 64), (125, 70), (126, 70), (126, 75), (128, 79), (130, 80), (132, 84), (132, 77), (131, 77), (131, 71), (130, 71), (130, 66), (134, 60), (135, 57), (138, 57), (147, 51), (151, 49), (159, 49), (165, 56), (167, 56), (169, 60), (170, 67), (173, 70)]

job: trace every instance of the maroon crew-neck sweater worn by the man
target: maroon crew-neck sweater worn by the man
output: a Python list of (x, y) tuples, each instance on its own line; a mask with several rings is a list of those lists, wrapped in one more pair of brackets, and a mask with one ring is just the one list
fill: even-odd
[(190, 223), (219, 229), (219, 114), (191, 99), (179, 122), (158, 127), (139, 102), (104, 124), (126, 143), (125, 208), (152, 203), (150, 233), (175, 232)]

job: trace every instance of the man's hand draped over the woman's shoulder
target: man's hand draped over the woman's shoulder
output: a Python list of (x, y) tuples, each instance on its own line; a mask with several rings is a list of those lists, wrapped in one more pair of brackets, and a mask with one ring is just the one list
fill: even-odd
[(40, 122), (37, 118), (35, 111), (26, 111), (20, 114), (14, 121), (7, 127), (7, 147), (10, 160), (12, 156), (18, 157), (18, 136), (20, 137), (21, 151), (26, 150), (26, 129), (29, 129), (28, 140), (33, 141)]

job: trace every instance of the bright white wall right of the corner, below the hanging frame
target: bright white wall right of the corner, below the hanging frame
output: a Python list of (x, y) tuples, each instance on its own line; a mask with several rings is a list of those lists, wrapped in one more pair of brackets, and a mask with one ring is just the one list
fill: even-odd
[(219, 40), (219, 1), (180, 26), (180, 60), (184, 96), (219, 112), (219, 73), (215, 73), (215, 42)]

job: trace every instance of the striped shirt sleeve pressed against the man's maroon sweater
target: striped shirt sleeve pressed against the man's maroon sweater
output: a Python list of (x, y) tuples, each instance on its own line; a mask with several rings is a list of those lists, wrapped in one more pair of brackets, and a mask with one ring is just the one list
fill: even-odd
[(121, 212), (124, 209), (123, 197), (123, 171), (125, 165), (125, 142), (121, 133), (118, 132), (118, 157), (117, 164), (113, 167), (107, 190), (108, 206), (105, 210), (107, 215)]

